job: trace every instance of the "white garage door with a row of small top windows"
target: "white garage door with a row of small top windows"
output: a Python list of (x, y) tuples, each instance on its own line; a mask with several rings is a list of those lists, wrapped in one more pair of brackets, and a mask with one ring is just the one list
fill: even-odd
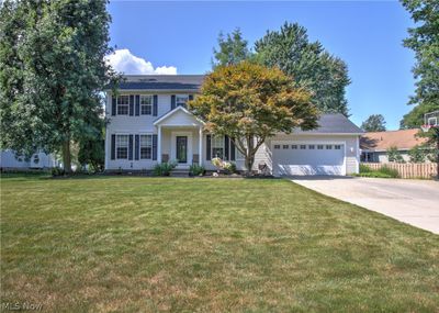
[(334, 143), (272, 143), (273, 175), (346, 175), (345, 145)]

